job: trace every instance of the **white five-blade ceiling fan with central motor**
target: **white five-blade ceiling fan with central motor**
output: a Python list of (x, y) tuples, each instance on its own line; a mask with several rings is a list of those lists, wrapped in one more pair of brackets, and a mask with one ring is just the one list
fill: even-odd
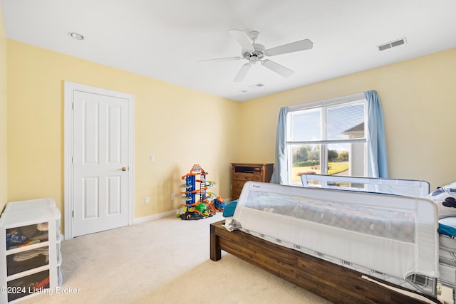
[(234, 83), (239, 83), (244, 80), (247, 72), (252, 67), (252, 65), (260, 62), (269, 70), (272, 70), (283, 77), (290, 77), (293, 75), (294, 71), (290, 70), (289, 68), (284, 67), (284, 65), (280, 65), (274, 61), (270, 61), (269, 59), (263, 59), (264, 56), (276, 56), (285, 53), (293, 53), (297, 51), (305, 51), (310, 50), (314, 43), (309, 39), (304, 39), (300, 41), (295, 41), (292, 43), (287, 43), (282, 46), (276, 46), (274, 48), (265, 48), (263, 45), (256, 43), (257, 38), (259, 37), (259, 32), (251, 31), (250, 33), (246, 33), (242, 30), (233, 29), (230, 30), (229, 33), (231, 36), (242, 46), (241, 56), (237, 57), (226, 57), (226, 58), (215, 58), (215, 59), (208, 59), (204, 61), (237, 61), (239, 59), (245, 59), (249, 61), (242, 65), (242, 68), (237, 73), (236, 77), (234, 78)]

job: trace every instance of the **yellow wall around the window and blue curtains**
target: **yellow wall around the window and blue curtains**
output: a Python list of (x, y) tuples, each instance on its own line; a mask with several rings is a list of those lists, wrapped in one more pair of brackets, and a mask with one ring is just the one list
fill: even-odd
[[(390, 177), (424, 179), (431, 189), (456, 181), (456, 48), (241, 104), (244, 162), (274, 162), (279, 109), (377, 90)], [(261, 126), (261, 127), (257, 127)]]

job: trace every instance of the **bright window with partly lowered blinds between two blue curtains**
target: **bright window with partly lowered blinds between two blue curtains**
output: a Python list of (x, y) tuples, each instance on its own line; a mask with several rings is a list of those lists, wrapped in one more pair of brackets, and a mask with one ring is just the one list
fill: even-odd
[(302, 173), (367, 176), (363, 94), (291, 107), (286, 121), (289, 184)]

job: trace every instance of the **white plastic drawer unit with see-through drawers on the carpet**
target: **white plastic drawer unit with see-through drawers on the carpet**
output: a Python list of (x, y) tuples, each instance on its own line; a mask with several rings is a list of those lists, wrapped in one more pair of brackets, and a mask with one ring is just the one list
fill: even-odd
[(0, 303), (61, 285), (60, 219), (52, 199), (6, 205), (0, 217)]

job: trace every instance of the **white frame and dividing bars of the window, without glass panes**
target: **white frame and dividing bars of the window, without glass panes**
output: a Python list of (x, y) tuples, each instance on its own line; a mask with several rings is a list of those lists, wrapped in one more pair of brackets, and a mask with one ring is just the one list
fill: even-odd
[[(289, 137), (289, 130), (291, 130), (291, 120), (289, 119), (291, 113), (293, 112), (299, 112), (301, 110), (311, 110), (311, 109), (314, 109), (314, 108), (332, 108), (334, 106), (341, 106), (341, 105), (350, 105), (350, 104), (356, 104), (356, 103), (360, 103), (360, 102), (363, 102), (364, 103), (364, 107), (365, 107), (365, 111), (364, 111), (364, 132), (365, 132), (365, 138), (363, 139), (352, 139), (352, 140), (341, 140), (341, 141), (338, 141), (338, 140), (316, 140), (316, 141), (305, 141), (305, 142), (301, 142), (301, 141), (292, 141)], [(321, 130), (324, 130), (326, 128), (326, 111), (321, 111), (322, 112), (322, 122), (325, 123), (325, 125), (321, 128)], [(322, 172), (321, 174), (327, 174), (327, 171), (326, 171), (326, 167), (324, 167), (324, 162), (326, 162), (326, 154), (327, 154), (327, 149), (328, 149), (328, 145), (331, 145), (331, 144), (336, 144), (336, 143), (341, 143), (341, 142), (349, 142), (349, 143), (354, 143), (354, 142), (366, 142), (366, 145), (365, 145), (365, 148), (364, 148), (364, 177), (367, 177), (367, 172), (368, 172), (368, 163), (367, 163), (367, 151), (368, 151), (368, 145), (369, 145), (369, 140), (368, 140), (368, 101), (366, 100), (366, 96), (364, 95), (364, 93), (358, 93), (358, 94), (354, 94), (354, 95), (348, 95), (348, 96), (344, 96), (344, 97), (341, 97), (341, 98), (333, 98), (333, 99), (329, 99), (329, 100), (321, 100), (321, 101), (318, 101), (318, 102), (314, 102), (314, 103), (306, 103), (306, 104), (302, 104), (302, 105), (294, 105), (294, 106), (290, 106), (289, 107), (289, 112), (288, 112), (288, 115), (286, 117), (286, 134), (285, 134), (285, 137), (286, 137), (286, 150), (287, 150), (287, 167), (288, 167), (288, 172), (289, 172), (289, 184), (290, 185), (299, 185), (301, 186), (301, 182), (297, 183), (297, 182), (292, 182), (292, 174), (293, 174), (293, 156), (292, 156), (292, 149), (291, 149), (291, 146), (292, 145), (299, 145), (299, 144), (302, 144), (302, 145), (312, 145), (312, 144), (315, 144), (315, 145), (321, 145), (321, 151), (320, 151), (320, 164), (321, 164), (321, 168), (322, 168)], [(323, 159), (324, 159), (324, 162), (323, 162)], [(325, 168), (325, 169), (323, 169)]]

